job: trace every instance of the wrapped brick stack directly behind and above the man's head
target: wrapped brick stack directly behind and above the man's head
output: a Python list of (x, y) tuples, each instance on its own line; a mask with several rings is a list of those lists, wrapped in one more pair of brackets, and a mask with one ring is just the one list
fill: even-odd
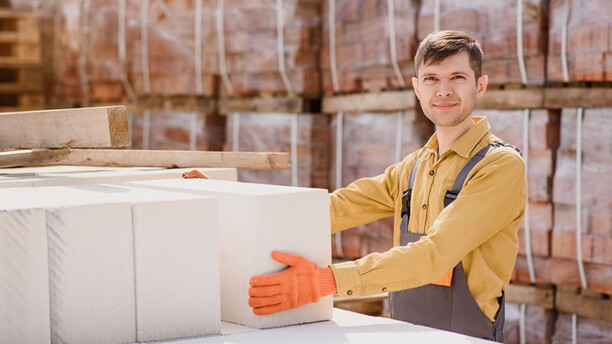
[[(545, 0), (523, 4), (523, 57), (527, 83), (542, 85), (546, 65)], [(417, 36), (421, 41), (434, 30), (434, 0), (421, 1)], [(480, 42), (490, 84), (522, 83), (517, 49), (517, 1), (440, 0), (440, 29), (463, 30)]]

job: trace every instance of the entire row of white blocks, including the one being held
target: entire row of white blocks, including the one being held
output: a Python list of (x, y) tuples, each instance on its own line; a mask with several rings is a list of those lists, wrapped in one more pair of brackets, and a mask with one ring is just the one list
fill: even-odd
[(320, 189), (178, 178), (0, 188), (0, 343), (146, 342), (214, 335), (221, 320), (331, 319), (331, 296), (269, 316), (247, 303), (250, 277), (286, 267), (273, 250), (331, 264), (329, 226)]

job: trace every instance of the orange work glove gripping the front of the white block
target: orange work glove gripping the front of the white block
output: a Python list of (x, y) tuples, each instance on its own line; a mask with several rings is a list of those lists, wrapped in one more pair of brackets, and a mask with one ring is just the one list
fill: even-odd
[(249, 306), (256, 315), (268, 315), (297, 308), (337, 291), (330, 267), (320, 268), (302, 256), (279, 251), (272, 258), (289, 268), (274, 274), (251, 277)]

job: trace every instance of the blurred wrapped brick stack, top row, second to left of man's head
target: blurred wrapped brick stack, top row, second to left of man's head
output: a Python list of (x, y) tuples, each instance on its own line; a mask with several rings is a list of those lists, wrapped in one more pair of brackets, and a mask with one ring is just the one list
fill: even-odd
[[(226, 0), (224, 3), (225, 63), (233, 92), (254, 96), (320, 93), (318, 51), (321, 40), (321, 0), (282, 1), (284, 69), (279, 66), (277, 11), (274, 1)], [(218, 51), (217, 41), (207, 47)], [(291, 92), (292, 91), (292, 92)]]

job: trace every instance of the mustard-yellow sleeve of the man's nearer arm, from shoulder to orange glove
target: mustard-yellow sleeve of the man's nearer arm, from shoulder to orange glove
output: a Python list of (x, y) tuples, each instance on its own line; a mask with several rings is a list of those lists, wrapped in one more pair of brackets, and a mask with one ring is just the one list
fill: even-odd
[[(526, 199), (522, 159), (491, 154), (482, 163), (427, 236), (384, 253), (334, 264), (338, 293), (361, 296), (432, 283), (502, 229), (518, 227)], [(514, 248), (500, 245), (496, 249)]]

